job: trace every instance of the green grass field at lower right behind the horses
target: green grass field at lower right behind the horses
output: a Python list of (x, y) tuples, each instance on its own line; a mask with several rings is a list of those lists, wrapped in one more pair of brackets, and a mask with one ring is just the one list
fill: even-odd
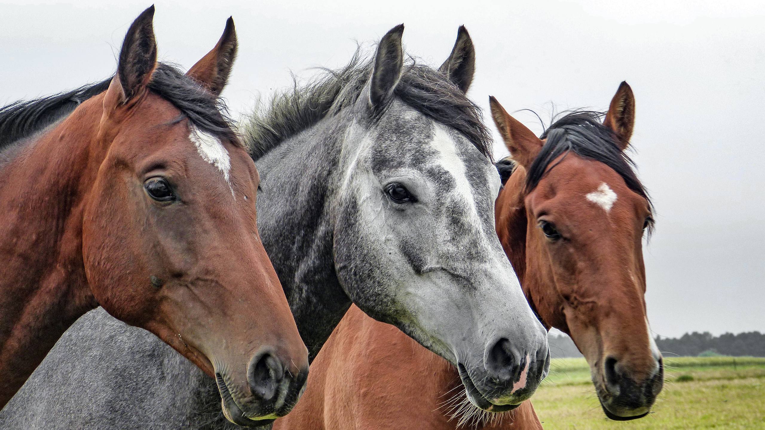
[(532, 398), (546, 430), (765, 429), (765, 358), (665, 357), (666, 382), (653, 413), (605, 417), (584, 359), (555, 359)]

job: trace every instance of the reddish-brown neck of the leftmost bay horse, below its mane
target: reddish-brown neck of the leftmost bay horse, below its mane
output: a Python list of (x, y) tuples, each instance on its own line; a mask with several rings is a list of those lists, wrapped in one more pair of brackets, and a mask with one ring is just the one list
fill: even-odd
[[(100, 99), (100, 98), (99, 98)], [(89, 101), (0, 168), (0, 407), (81, 314), (96, 307), (82, 256), (83, 196), (103, 151)]]

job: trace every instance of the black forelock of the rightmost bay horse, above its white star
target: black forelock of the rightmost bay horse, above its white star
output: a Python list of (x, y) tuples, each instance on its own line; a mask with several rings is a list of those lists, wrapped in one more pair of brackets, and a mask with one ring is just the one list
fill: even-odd
[(574, 151), (582, 158), (600, 161), (616, 171), (630, 190), (648, 200), (653, 213), (653, 203), (648, 192), (635, 174), (634, 161), (626, 151), (619, 148), (614, 132), (603, 125), (603, 117), (603, 112), (575, 111), (550, 125), (540, 136), (542, 139), (547, 138), (547, 142), (527, 172), (526, 191), (532, 191), (545, 174), (555, 168), (562, 159), (551, 166), (552, 161)]

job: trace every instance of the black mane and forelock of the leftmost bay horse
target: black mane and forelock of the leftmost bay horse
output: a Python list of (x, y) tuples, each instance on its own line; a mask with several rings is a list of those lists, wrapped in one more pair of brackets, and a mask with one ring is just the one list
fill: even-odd
[[(30, 101), (18, 101), (0, 108), (0, 151), (13, 142), (28, 138), (48, 125), (69, 116), (85, 100), (103, 93), (112, 78), (77, 90)], [(220, 99), (168, 64), (158, 64), (148, 84), (151, 92), (168, 100), (190, 122), (205, 132), (239, 143), (226, 108)]]

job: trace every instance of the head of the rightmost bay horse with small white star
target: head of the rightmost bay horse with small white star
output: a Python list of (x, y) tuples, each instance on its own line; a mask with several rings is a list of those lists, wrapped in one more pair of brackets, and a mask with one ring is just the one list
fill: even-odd
[[(517, 163), (497, 199), (497, 233), (510, 261), (526, 262), (519, 270), (526, 297), (584, 354), (606, 415), (640, 418), (664, 378), (645, 301), (643, 236), (653, 227), (653, 205), (624, 153), (632, 89), (621, 83), (602, 124), (592, 112), (575, 112), (542, 139), (490, 103)], [(525, 235), (513, 231), (520, 223)]]

